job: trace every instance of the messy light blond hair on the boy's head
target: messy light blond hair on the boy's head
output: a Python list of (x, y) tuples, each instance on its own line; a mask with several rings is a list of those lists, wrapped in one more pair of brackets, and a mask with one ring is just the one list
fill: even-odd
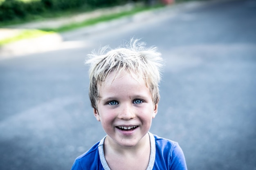
[(97, 101), (100, 99), (99, 87), (113, 71), (113, 81), (122, 71), (126, 71), (135, 79), (142, 77), (152, 95), (153, 103), (159, 102), (158, 84), (161, 79), (160, 69), (163, 66), (162, 54), (157, 51), (157, 47), (146, 48), (145, 45), (144, 42), (132, 39), (116, 49), (105, 46), (98, 54), (92, 52), (88, 55), (85, 64), (90, 64), (89, 97), (93, 108), (97, 109)]

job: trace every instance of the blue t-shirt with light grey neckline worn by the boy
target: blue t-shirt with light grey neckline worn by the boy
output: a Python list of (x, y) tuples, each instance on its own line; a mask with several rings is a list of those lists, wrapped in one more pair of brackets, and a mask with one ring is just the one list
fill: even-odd
[[(177, 142), (148, 132), (150, 158), (146, 170), (187, 170), (182, 149)], [(76, 158), (71, 170), (110, 170), (104, 157), (104, 137), (90, 150)]]

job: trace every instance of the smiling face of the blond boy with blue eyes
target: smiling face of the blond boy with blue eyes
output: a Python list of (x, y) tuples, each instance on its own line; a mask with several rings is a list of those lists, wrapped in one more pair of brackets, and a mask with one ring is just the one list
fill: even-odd
[(143, 144), (141, 139), (157, 114), (157, 104), (153, 104), (144, 79), (135, 80), (124, 72), (114, 81), (113, 77), (112, 72), (99, 88), (100, 99), (94, 115), (101, 121), (110, 144), (124, 147)]

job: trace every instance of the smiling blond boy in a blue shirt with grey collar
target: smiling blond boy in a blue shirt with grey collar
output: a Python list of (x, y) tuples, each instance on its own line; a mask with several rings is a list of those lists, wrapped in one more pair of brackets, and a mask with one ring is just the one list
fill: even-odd
[(159, 102), (161, 53), (138, 40), (106, 50), (87, 63), (94, 116), (107, 135), (72, 170), (186, 170), (180, 146), (148, 132)]

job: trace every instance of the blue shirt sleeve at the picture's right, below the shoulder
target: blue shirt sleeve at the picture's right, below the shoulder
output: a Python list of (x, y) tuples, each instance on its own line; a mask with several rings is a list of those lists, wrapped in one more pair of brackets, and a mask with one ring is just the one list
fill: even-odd
[(178, 143), (173, 146), (170, 165), (170, 170), (187, 170), (185, 157)]

